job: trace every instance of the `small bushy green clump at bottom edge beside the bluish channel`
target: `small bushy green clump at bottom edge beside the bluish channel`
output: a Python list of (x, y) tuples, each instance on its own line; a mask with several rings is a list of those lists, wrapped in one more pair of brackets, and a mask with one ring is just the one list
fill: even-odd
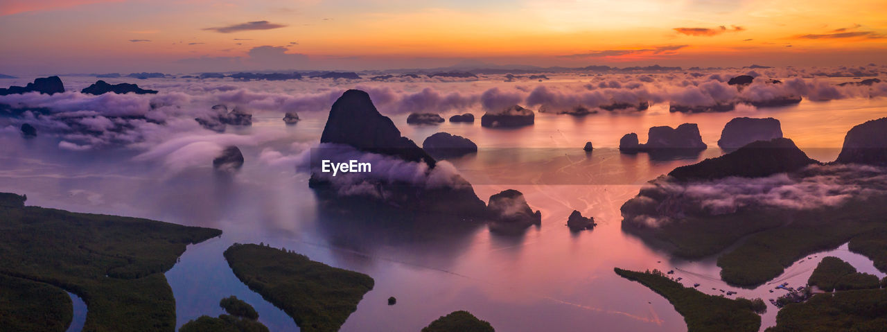
[(197, 320), (191, 320), (185, 323), (179, 332), (268, 332), (268, 328), (264, 324), (257, 321), (259, 319), (258, 312), (252, 305), (247, 304), (237, 298), (237, 296), (228, 296), (219, 302), (219, 306), (224, 308), (229, 314), (219, 315), (218, 318), (212, 318), (207, 315), (200, 316)]

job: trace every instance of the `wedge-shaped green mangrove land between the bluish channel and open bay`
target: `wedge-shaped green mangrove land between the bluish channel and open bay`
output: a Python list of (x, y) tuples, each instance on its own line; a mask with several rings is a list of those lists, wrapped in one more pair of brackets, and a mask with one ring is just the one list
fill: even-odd
[(373, 289), (373, 278), (256, 244), (233, 244), (224, 257), (234, 274), (287, 312), (304, 332), (336, 331)]

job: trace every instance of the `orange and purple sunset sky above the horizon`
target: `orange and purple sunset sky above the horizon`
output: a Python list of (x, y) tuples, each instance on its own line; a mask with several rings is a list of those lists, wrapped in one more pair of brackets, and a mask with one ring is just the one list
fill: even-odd
[(887, 2), (0, 0), (0, 73), (865, 65)]

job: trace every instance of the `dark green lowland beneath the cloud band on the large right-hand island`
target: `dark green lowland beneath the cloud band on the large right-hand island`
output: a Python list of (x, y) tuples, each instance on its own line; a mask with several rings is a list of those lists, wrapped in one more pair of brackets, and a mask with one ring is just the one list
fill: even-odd
[[(632, 201), (623, 209), (643, 209), (632, 205), (643, 200)], [(685, 258), (716, 255), (743, 240), (733, 251), (718, 257), (718, 266), (724, 281), (751, 287), (779, 276), (806, 255), (835, 249), (848, 241), (852, 251), (872, 258), (875, 266), (887, 271), (885, 206), (887, 197), (872, 196), (840, 208), (742, 210), (686, 217), (658, 228), (637, 228), (623, 222), (623, 229)]]

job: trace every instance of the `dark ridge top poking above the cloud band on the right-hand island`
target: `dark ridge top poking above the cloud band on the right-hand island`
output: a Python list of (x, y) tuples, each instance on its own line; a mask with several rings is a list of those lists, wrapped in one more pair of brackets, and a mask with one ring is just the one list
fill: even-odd
[(800, 170), (819, 163), (795, 146), (789, 138), (759, 140), (729, 154), (681, 166), (668, 174), (678, 180), (726, 177), (760, 178)]

